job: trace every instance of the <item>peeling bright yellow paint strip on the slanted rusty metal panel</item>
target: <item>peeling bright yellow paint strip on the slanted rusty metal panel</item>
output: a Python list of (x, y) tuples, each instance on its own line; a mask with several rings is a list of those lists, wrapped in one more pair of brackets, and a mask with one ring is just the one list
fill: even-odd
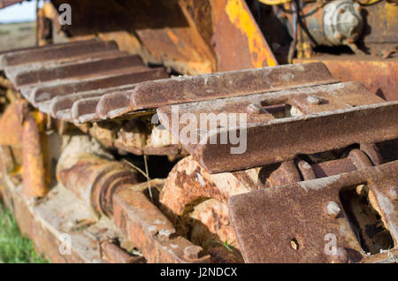
[(264, 61), (268, 66), (278, 65), (272, 52), (266, 46), (263, 34), (258, 29), (256, 22), (249, 11), (245, 9), (241, 0), (228, 0), (226, 14), (233, 25), (246, 35), (249, 43), (251, 63), (254, 67), (263, 67)]

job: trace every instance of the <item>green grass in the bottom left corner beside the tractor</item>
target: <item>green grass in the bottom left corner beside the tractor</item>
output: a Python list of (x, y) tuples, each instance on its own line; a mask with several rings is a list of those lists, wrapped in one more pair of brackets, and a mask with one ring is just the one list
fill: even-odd
[(47, 263), (34, 252), (30, 239), (22, 237), (18, 224), (11, 213), (0, 202), (0, 262)]

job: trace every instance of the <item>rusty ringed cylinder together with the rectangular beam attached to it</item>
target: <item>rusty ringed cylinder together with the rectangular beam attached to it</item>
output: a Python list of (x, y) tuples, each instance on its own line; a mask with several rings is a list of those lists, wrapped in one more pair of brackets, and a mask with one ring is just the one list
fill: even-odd
[[(88, 208), (113, 217), (121, 232), (137, 245), (148, 262), (210, 261), (209, 256), (199, 257), (201, 247), (196, 247), (182, 237), (172, 237), (176, 231), (148, 198), (148, 184), (137, 185), (143, 178), (126, 166), (126, 163), (91, 154), (82, 154), (72, 159), (67, 157), (57, 167), (57, 178), (84, 201)], [(161, 187), (163, 182), (153, 180), (149, 185)], [(107, 246), (105, 253), (112, 250), (110, 247), (112, 246)], [(123, 255), (126, 254), (118, 254), (119, 258)], [(114, 257), (116, 258), (118, 257)], [(134, 259), (134, 262), (140, 260)]]

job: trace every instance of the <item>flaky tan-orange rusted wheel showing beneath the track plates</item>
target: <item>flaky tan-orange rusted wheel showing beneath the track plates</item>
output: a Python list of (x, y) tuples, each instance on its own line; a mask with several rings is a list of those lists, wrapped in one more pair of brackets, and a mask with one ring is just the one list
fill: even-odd
[(233, 251), (224, 253), (221, 261), (241, 262), (240, 246), (230, 223), (227, 200), (236, 194), (264, 188), (266, 179), (268, 186), (301, 180), (298, 171), (290, 163), (281, 165), (271, 176), (265, 175), (263, 169), (211, 175), (192, 156), (187, 156), (169, 173), (159, 201), (161, 209), (172, 217), (173, 223), (183, 225), (180, 232), (188, 233), (191, 241), (204, 247), (212, 259), (219, 262), (219, 244), (214, 241), (228, 241)]

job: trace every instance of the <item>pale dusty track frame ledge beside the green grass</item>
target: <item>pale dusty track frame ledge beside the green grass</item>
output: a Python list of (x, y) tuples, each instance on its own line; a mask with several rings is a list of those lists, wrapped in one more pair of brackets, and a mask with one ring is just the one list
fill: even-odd
[[(127, 245), (126, 237), (111, 220), (97, 219), (63, 186), (52, 186), (44, 200), (26, 198), (18, 168), (23, 157), (19, 149), (0, 147), (0, 197), (15, 216), (23, 235), (34, 242), (37, 254), (51, 262), (105, 262), (101, 242), (118, 237), (120, 245)], [(63, 247), (66, 233), (73, 241), (70, 251)]]

